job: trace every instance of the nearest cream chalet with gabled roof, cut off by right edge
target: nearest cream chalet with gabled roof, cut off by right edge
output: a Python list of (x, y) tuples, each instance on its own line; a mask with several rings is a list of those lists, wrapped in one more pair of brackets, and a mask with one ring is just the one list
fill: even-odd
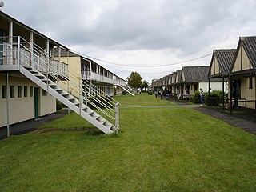
[(231, 106), (256, 109), (256, 36), (240, 37), (229, 79)]

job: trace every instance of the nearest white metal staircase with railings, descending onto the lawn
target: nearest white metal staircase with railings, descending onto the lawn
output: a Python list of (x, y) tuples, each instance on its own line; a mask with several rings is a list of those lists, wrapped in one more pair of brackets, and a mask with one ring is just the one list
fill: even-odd
[[(11, 63), (9, 65), (18, 65), (19, 71), (29, 78), (32, 82), (46, 90), (58, 101), (69, 107), (75, 113), (79, 114), (86, 121), (102, 130), (105, 134), (118, 132), (119, 129), (119, 103), (113, 98), (104, 95), (101, 90), (91, 82), (82, 82), (80, 74), (67, 72), (67, 66), (52, 58), (43, 56), (44, 50), (38, 46), (33, 49), (27, 48), (30, 42), (17, 37), (18, 40), (12, 46), (6, 46), (6, 55), (9, 55)], [(22, 42), (21, 42), (22, 41)], [(26, 46), (24, 46), (26, 45)], [(7, 57), (6, 57), (7, 58)], [(8, 59), (6, 59), (8, 61)], [(8, 63), (6, 62), (6, 65)], [(67, 73), (69, 75), (67, 75)], [(70, 78), (76, 78), (78, 86), (78, 97), (70, 94), (70, 90), (64, 90), (55, 82), (65, 80), (70, 83)], [(51, 80), (52, 79), (52, 80)], [(74, 79), (73, 79), (74, 80)], [(74, 82), (74, 81), (73, 81)], [(74, 86), (73, 86), (74, 87)], [(102, 97), (102, 95), (104, 97)], [(93, 106), (98, 112), (92, 110), (87, 104)], [(104, 116), (104, 117), (103, 117)], [(109, 118), (109, 120), (107, 120)], [(111, 122), (110, 122), (111, 121)]]

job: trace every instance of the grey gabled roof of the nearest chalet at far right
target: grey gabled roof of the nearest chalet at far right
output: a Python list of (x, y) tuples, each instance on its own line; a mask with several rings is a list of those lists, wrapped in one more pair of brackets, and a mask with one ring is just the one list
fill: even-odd
[(236, 50), (236, 54), (235, 54), (234, 61), (232, 63), (232, 68), (230, 71), (232, 71), (234, 67), (234, 63), (237, 58), (239, 48), (241, 46), (246, 51), (246, 55), (250, 60), (250, 64), (253, 66), (254, 72), (256, 72), (256, 36), (239, 38), (238, 48)]

